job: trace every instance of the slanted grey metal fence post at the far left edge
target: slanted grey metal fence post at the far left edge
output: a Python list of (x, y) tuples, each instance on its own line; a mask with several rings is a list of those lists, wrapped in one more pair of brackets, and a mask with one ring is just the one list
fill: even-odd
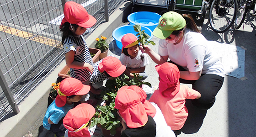
[(5, 93), (5, 96), (9, 102), (9, 104), (11, 105), (11, 108), (13, 110), (14, 113), (18, 114), (20, 112), (18, 105), (16, 104), (12, 94), (11, 94), (11, 90), (5, 80), (4, 74), (2, 73), (2, 70), (0, 69), (0, 85), (2, 87), (2, 90)]

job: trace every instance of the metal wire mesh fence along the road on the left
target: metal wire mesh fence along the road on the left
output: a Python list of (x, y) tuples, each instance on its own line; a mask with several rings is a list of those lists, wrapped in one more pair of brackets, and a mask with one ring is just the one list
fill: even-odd
[[(64, 60), (59, 25), (65, 1), (0, 0), (0, 84), (7, 85), (0, 89), (0, 123), (18, 113), (17, 106)], [(74, 1), (97, 20), (86, 38), (125, 0)], [(8, 91), (10, 96), (5, 95)]]

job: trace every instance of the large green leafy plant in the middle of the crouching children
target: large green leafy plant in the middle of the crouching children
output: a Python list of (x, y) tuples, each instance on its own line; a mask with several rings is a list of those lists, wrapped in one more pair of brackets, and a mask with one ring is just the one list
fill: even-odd
[(125, 86), (125, 85), (142, 85), (147, 84), (151, 87), (151, 84), (149, 82), (143, 82), (139, 81), (139, 77), (136, 74), (133, 74), (134, 78), (129, 80), (129, 77), (124, 75), (124, 77), (117, 77), (116, 79), (110, 80), (108, 79), (105, 86), (107, 90), (104, 90), (101, 92), (101, 95), (103, 96), (103, 100), (107, 105), (105, 106), (97, 106), (96, 107), (96, 113), (94, 117), (91, 119), (91, 126), (95, 126), (97, 124), (101, 125), (101, 128), (106, 128), (107, 130), (110, 130), (112, 135), (116, 134), (116, 128), (120, 126), (121, 122), (118, 119), (117, 109), (114, 108), (115, 106), (115, 98), (117, 96), (117, 91)]

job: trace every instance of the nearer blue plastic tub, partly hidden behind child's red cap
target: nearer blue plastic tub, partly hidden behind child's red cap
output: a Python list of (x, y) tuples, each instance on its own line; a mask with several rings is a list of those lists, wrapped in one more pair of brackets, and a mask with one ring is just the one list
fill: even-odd
[[(145, 30), (145, 33), (147, 33), (150, 37), (148, 39), (151, 40), (153, 35), (152, 35), (152, 31), (147, 28), (147, 27), (144, 27), (144, 26), (141, 26), (141, 30)], [(116, 40), (116, 43), (117, 43), (117, 47), (120, 48), (122, 50), (122, 42), (121, 42), (121, 39), (122, 37), (127, 34), (127, 33), (132, 33), (136, 36), (136, 34), (138, 32), (135, 32), (134, 31), (134, 28), (133, 28), (133, 25), (124, 25), (124, 26), (119, 26), (117, 27), (113, 32), (112, 32), (112, 36), (114, 37), (114, 39)]]

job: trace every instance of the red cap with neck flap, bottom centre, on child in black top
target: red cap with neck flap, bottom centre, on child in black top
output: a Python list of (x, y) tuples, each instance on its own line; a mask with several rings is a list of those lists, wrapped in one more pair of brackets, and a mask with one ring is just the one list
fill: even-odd
[(123, 86), (117, 91), (114, 108), (118, 109), (129, 128), (138, 128), (147, 123), (148, 116), (139, 96), (128, 87)]

